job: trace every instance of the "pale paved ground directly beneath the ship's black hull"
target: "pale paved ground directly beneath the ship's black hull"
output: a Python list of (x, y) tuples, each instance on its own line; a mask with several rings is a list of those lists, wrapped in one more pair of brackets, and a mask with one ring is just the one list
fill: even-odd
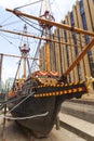
[[(2, 126), (0, 126), (0, 133), (1, 130)], [(56, 130), (54, 127), (45, 139), (35, 139), (33, 137), (29, 139), (14, 121), (6, 121), (5, 139), (6, 141), (85, 141), (62, 127), (61, 130)], [(2, 141), (1, 136), (0, 141)]]

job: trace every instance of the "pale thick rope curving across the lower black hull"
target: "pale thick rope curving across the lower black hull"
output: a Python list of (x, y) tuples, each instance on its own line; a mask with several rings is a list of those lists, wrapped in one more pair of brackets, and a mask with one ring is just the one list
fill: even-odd
[(12, 117), (12, 116), (4, 116), (4, 115), (0, 115), (1, 118), (5, 118), (5, 119), (11, 119), (11, 120), (24, 120), (24, 119), (31, 119), (31, 118), (37, 118), (37, 117), (43, 117), (46, 116), (49, 114), (49, 112), (45, 112), (43, 114), (38, 114), (38, 115), (32, 115), (32, 116), (26, 116), (26, 117)]

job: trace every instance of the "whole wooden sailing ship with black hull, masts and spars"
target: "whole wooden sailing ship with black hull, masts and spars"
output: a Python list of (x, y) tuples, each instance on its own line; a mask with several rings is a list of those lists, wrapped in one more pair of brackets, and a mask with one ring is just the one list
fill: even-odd
[[(56, 26), (70, 31), (73, 30), (76, 33), (94, 36), (94, 33), (56, 23), (53, 15), (51, 15), (48, 10), (45, 10), (44, 14), (40, 17), (23, 13), (16, 9), (6, 9), (6, 11), (13, 12), (17, 16), (25, 16), (38, 21), (45, 33), (49, 33), (52, 26)], [(0, 30), (26, 37), (33, 37), (27, 33), (10, 31), (2, 28)], [(24, 60), (24, 76), (21, 79), (16, 79), (21, 65), (19, 62), (12, 90), (9, 92), (8, 99), (5, 101), (3, 100), (1, 104), (8, 104), (13, 118), (21, 126), (28, 129), (36, 137), (42, 138), (46, 137), (52, 130), (62, 103), (67, 99), (79, 99), (82, 94), (88, 92), (85, 81), (69, 84), (67, 81), (67, 75), (69, 75), (75, 66), (94, 46), (94, 39), (85, 47), (71, 66), (62, 76), (59, 76), (57, 72), (51, 72), (49, 56), (49, 41), (58, 41), (52, 40), (48, 36), (45, 36), (45, 38), (35, 36), (33, 38), (46, 41), (46, 70), (30, 73), (29, 69), (29, 75), (26, 76), (26, 62), (28, 63), (28, 53), (30, 49), (26, 46), (26, 43), (24, 43), (24, 46), (19, 48), (22, 53), (21, 61), (22, 59)]]

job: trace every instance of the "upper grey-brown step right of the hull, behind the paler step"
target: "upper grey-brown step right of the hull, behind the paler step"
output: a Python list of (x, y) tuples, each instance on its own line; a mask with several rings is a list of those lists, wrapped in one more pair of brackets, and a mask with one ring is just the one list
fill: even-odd
[(66, 101), (62, 104), (61, 112), (94, 124), (94, 104)]

